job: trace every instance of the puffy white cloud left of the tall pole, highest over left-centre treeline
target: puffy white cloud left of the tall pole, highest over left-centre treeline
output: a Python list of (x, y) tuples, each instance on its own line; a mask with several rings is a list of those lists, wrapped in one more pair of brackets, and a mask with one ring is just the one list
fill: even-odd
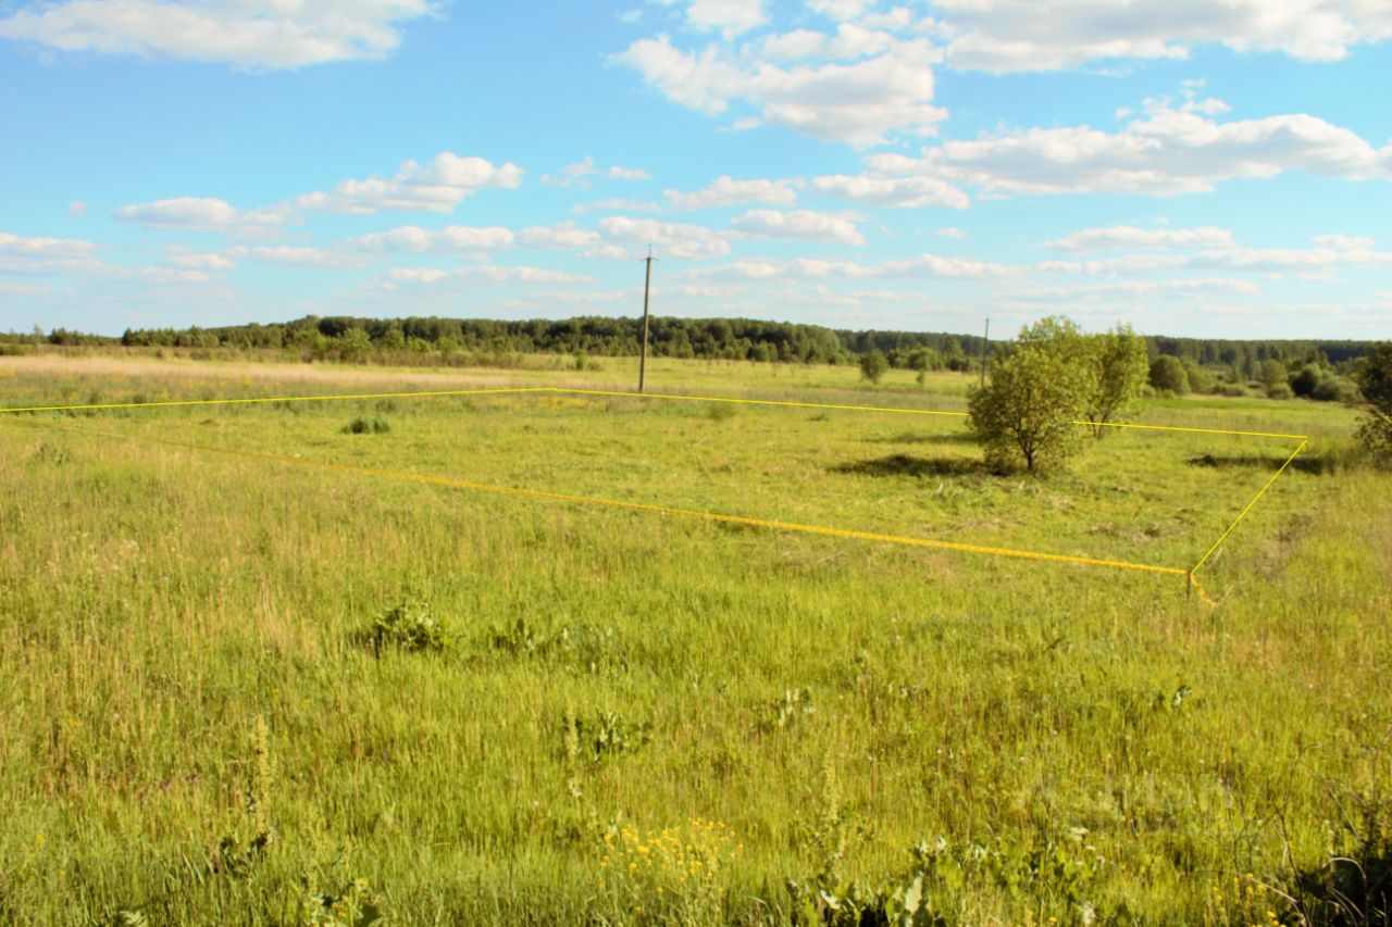
[(395, 177), (345, 180), (331, 192), (305, 193), (295, 206), (305, 210), (372, 214), (380, 212), (450, 213), (480, 189), (511, 189), (522, 184), (522, 168), (493, 164), (482, 157), (452, 152), (436, 154), (426, 166), (402, 161)]

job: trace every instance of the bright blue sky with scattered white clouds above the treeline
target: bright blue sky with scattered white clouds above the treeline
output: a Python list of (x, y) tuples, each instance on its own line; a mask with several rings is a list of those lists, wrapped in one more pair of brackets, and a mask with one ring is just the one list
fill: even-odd
[[(1392, 334), (1366, 0), (0, 0), (0, 330)], [(1001, 326), (998, 328), (997, 326)]]

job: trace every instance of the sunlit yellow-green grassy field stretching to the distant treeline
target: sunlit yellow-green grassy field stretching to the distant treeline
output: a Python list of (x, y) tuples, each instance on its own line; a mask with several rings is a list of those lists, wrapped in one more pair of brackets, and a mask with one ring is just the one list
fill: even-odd
[[(0, 405), (631, 388), (629, 366), (0, 358)], [(649, 381), (947, 412), (970, 383)], [(922, 895), (915, 923), (1336, 923), (1331, 856), (1392, 866), (1392, 477), (1339, 406), (1136, 420), (1311, 436), (1204, 565), (1215, 607), (1178, 576), (319, 464), (1183, 569), (1295, 441), (1119, 431), (1023, 479), (983, 470), (962, 419), (892, 412), (0, 416), (0, 920), (788, 923)]]

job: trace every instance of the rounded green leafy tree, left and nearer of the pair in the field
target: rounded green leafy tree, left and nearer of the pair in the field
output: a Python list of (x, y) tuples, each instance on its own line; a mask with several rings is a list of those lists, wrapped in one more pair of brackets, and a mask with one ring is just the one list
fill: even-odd
[(967, 405), (987, 462), (1011, 469), (1023, 461), (1030, 472), (1062, 464), (1080, 444), (1076, 420), (1090, 390), (1090, 372), (1066, 351), (1026, 342), (997, 359), (991, 381)]

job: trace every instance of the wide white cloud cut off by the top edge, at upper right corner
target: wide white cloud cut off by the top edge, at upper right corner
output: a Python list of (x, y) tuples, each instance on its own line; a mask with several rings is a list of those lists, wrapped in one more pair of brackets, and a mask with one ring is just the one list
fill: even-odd
[(955, 68), (1051, 71), (1101, 58), (1186, 58), (1222, 43), (1332, 61), (1392, 38), (1392, 8), (1368, 0), (937, 0)]

